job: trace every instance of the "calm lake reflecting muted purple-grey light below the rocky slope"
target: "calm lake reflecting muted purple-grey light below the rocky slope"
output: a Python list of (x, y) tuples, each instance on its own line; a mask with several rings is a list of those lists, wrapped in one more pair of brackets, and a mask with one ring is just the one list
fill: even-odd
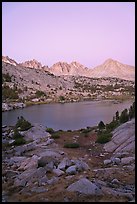
[(86, 101), (64, 104), (41, 104), (2, 113), (2, 125), (15, 125), (17, 117), (39, 123), (54, 130), (77, 130), (95, 126), (102, 120), (109, 123), (116, 111), (129, 109), (132, 101), (114, 103), (113, 101)]

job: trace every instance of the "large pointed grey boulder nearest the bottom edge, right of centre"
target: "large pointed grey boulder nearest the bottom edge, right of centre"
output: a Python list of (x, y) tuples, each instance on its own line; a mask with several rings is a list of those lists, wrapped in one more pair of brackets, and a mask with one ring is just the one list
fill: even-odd
[(81, 178), (75, 183), (71, 184), (67, 191), (79, 192), (85, 195), (97, 195), (101, 193), (101, 190), (91, 181), (86, 178)]

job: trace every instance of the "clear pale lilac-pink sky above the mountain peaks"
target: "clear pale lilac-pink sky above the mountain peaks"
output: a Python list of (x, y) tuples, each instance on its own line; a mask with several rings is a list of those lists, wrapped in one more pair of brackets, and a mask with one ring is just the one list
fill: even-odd
[(135, 2), (2, 2), (2, 55), (42, 65), (135, 66)]

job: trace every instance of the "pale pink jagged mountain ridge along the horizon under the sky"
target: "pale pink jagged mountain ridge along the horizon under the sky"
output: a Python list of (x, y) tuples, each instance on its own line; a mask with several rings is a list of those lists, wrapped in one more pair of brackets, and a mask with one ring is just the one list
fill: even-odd
[[(9, 57), (2, 57), (2, 61), (17, 65), (18, 63)], [(107, 59), (103, 64), (96, 66), (92, 69), (85, 67), (78, 62), (57, 62), (50, 68), (48, 66), (42, 66), (40, 62), (33, 59), (24, 63), (19, 63), (19, 66), (30, 67), (35, 69), (43, 69), (56, 76), (68, 75), (68, 76), (85, 76), (90, 78), (101, 77), (116, 77), (125, 80), (135, 80), (135, 68), (130, 65), (122, 64), (113, 59)]]

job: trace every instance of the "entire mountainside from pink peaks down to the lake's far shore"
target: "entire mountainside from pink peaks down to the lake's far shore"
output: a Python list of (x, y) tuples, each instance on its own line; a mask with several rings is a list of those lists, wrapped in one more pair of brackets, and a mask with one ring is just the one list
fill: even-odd
[[(35, 59), (17, 63), (2, 56), (2, 87), (4, 102), (126, 99), (134, 97), (135, 67), (113, 59), (94, 68), (76, 61), (48, 67)], [(16, 96), (9, 96), (10, 91)]]

